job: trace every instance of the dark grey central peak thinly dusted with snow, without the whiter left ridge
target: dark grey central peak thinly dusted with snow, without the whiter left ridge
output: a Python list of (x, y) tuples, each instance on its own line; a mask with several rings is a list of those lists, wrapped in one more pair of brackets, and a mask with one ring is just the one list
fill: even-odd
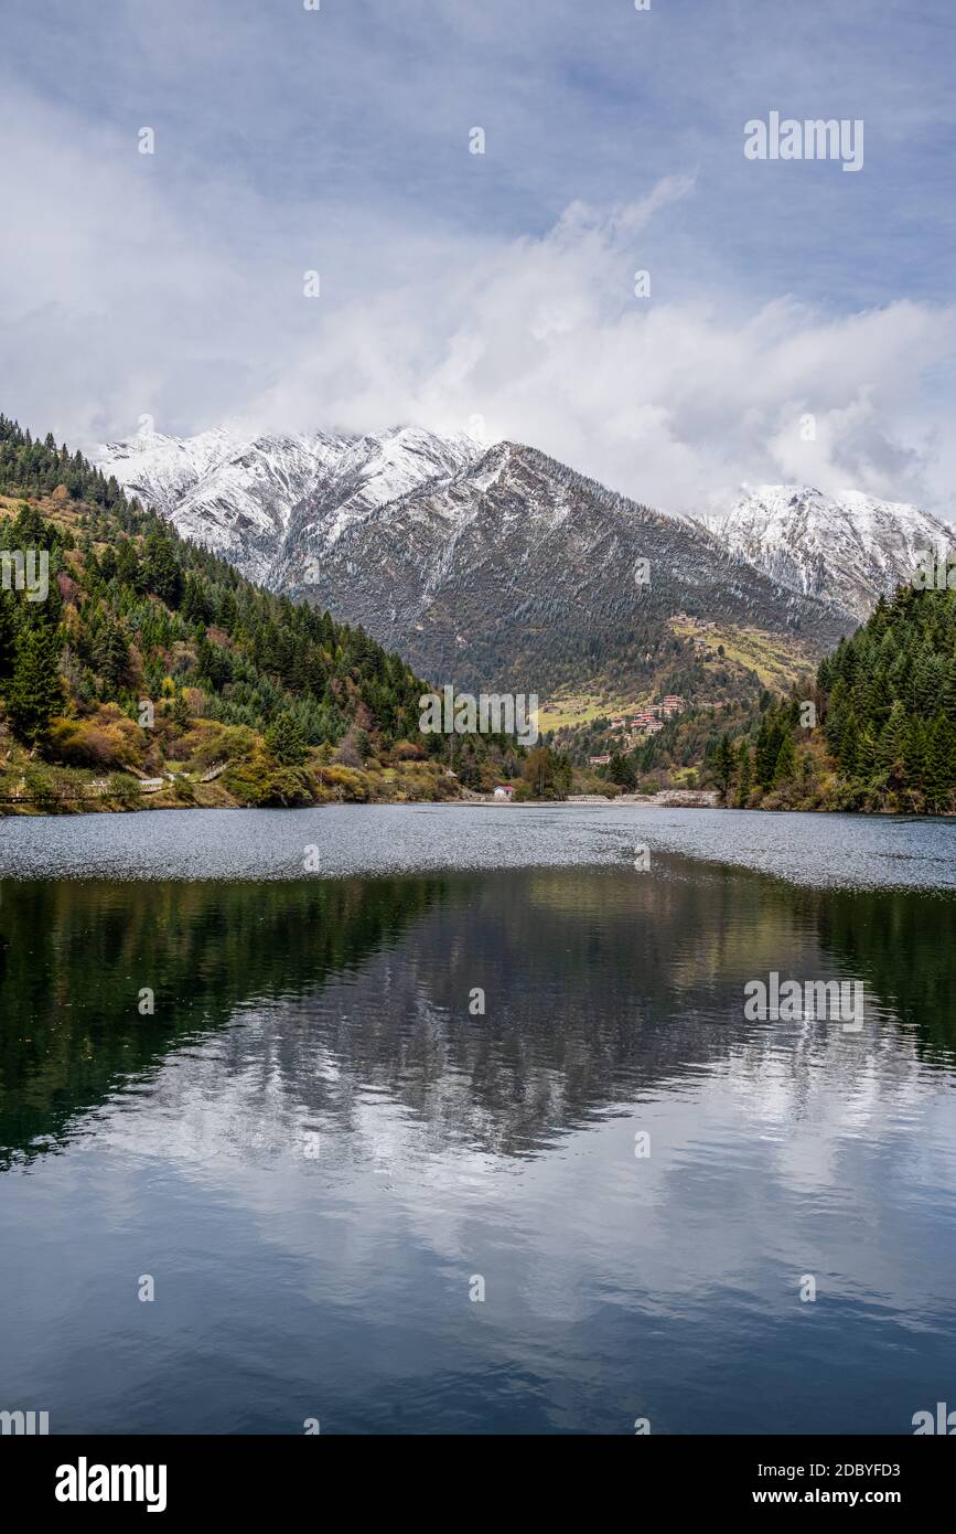
[[(642, 560), (647, 586), (636, 583)], [(313, 518), (286, 540), (276, 575), (421, 675), (470, 690), (544, 695), (614, 666), (640, 686), (676, 653), (674, 621), (758, 629), (804, 658), (849, 627), (731, 558), (700, 523), (513, 442), (354, 517), (334, 538)]]

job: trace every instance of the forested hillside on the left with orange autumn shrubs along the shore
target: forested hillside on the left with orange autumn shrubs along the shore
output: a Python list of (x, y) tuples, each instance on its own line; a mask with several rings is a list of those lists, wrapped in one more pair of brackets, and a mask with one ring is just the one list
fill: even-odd
[(398, 655), (257, 589), (5, 417), (0, 551), (49, 561), (41, 600), (11, 560), (0, 589), (3, 799), (132, 802), (158, 778), (175, 802), (457, 792)]

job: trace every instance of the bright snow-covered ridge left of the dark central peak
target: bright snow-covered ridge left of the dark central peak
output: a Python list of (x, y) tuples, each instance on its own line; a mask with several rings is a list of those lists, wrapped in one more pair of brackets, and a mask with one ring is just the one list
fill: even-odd
[(146, 431), (107, 442), (93, 457), (182, 537), (276, 586), (293, 523), (294, 537), (323, 546), (352, 520), (480, 454), (464, 434), (438, 437), (412, 426), (363, 437), (248, 437), (219, 426), (185, 439)]

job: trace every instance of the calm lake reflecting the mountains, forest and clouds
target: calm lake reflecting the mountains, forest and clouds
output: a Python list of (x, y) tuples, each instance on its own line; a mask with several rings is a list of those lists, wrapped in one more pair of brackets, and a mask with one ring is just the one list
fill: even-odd
[[(0, 821), (0, 1410), (910, 1433), (956, 1405), (954, 854), (625, 807)], [(861, 982), (863, 1026), (748, 1020), (771, 971)]]

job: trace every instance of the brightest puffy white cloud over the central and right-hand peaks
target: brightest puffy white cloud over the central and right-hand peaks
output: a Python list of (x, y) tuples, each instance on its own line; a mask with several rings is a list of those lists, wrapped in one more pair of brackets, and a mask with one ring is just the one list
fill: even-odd
[(956, 310), (898, 301), (832, 316), (780, 301), (748, 313), (740, 296), (657, 299), (654, 272), (637, 299), (643, 216), (575, 207), (542, 239), (348, 305), (257, 408), (305, 426), (320, 399), (352, 430), (467, 430), (478, 411), (490, 436), (674, 511), (712, 508), (740, 480), (945, 506), (953, 465), (935, 456), (931, 425), (951, 400), (925, 397), (924, 374), (951, 356)]

